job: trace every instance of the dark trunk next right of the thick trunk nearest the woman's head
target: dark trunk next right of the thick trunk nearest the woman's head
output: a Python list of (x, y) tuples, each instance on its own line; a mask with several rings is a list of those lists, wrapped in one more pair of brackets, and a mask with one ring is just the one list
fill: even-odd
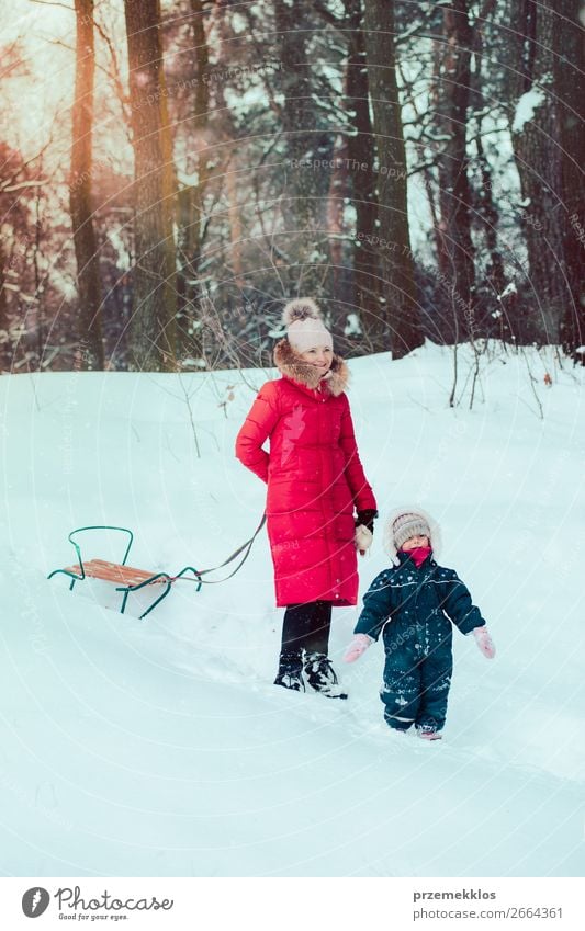
[(443, 9), (437, 88), (439, 132), (447, 136), (439, 163), (439, 273), (449, 294), (457, 342), (474, 336), (475, 270), (471, 240), (468, 177), (468, 106), (472, 31), (466, 0)]

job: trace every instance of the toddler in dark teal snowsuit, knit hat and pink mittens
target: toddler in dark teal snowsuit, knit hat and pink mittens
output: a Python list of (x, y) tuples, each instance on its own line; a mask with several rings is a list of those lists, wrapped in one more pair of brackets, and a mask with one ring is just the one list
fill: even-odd
[(396, 511), (385, 544), (393, 565), (365, 592), (344, 659), (355, 662), (382, 634), (386, 659), (380, 697), (386, 724), (403, 733), (414, 724), (419, 737), (437, 740), (453, 671), (451, 622), (474, 635), (487, 659), (495, 647), (457, 572), (436, 563), (439, 529), (428, 514)]

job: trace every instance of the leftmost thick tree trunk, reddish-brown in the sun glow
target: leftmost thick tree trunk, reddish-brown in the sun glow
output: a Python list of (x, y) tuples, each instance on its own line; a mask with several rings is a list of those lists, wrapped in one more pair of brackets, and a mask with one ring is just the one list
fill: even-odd
[(76, 76), (69, 206), (77, 261), (78, 334), (83, 348), (79, 359), (88, 368), (103, 368), (100, 260), (91, 204), (95, 71), (93, 0), (75, 0), (75, 13)]

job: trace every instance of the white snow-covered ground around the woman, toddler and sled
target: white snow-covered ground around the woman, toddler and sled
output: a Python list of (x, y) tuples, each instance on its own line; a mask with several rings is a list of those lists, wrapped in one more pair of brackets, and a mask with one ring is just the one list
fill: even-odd
[[(0, 378), (2, 875), (583, 874), (583, 372), (493, 352), (471, 411), (465, 351), (453, 409), (449, 349), (350, 366), (382, 514), (439, 520), (498, 649), (487, 662), (455, 634), (434, 745), (384, 726), (381, 646), (341, 670), (348, 702), (271, 685), (265, 532), (234, 579), (178, 583), (145, 621), (145, 597), (122, 616), (103, 582), (46, 580), (86, 524), (132, 527), (128, 561), (153, 570), (250, 536), (263, 486), (233, 444), (270, 373)], [(86, 555), (114, 550), (95, 534)], [(355, 617), (334, 617), (338, 668)]]

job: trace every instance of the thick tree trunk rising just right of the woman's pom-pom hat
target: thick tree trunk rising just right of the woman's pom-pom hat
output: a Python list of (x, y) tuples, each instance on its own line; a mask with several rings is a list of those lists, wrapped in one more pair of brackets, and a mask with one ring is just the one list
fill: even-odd
[(379, 248), (386, 307), (363, 314), (367, 336), (395, 359), (423, 342), (408, 230), (406, 152), (396, 82), (393, 0), (364, 0), (368, 81), (379, 160)]

